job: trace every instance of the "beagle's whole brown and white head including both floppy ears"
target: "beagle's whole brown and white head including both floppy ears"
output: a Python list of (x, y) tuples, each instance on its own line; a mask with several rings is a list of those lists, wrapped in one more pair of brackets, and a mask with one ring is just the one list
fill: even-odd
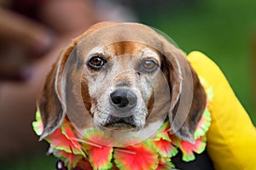
[[(112, 26), (117, 27), (108, 30)], [(148, 26), (106, 22), (75, 39), (49, 72), (38, 98), (42, 138), (55, 131), (67, 114), (62, 102), (69, 94), (60, 83), (67, 62), (76, 64), (67, 71), (67, 79), (80, 79), (73, 95), (81, 96), (96, 127), (141, 129), (168, 112), (172, 131), (181, 139), (194, 140), (206, 93), (183, 52)], [(150, 115), (155, 118), (149, 121)]]

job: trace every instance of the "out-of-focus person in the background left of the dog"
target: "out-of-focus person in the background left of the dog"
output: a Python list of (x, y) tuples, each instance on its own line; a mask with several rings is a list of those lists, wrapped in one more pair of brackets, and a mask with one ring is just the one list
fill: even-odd
[(90, 25), (137, 20), (120, 8), (101, 0), (0, 0), (0, 160), (47, 150), (31, 125), (44, 78), (61, 49)]

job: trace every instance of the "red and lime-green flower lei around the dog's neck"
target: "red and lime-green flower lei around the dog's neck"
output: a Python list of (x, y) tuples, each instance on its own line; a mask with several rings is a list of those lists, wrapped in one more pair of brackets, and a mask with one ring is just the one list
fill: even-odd
[[(64, 162), (63, 168), (60, 169), (170, 169), (175, 167), (172, 164), (172, 156), (177, 155), (177, 149), (182, 151), (183, 161), (193, 161), (194, 152), (201, 154), (206, 148), (206, 133), (211, 124), (208, 108), (213, 98), (213, 91), (212, 88), (207, 87), (207, 82), (202, 78), (201, 83), (207, 91), (207, 108), (195, 130), (194, 144), (168, 133), (171, 129), (169, 122), (162, 124), (153, 138), (125, 147), (109, 146), (112, 143), (111, 139), (108, 139), (104, 133), (94, 130), (86, 130), (83, 138), (78, 139), (72, 124), (67, 119), (45, 139), (49, 142), (53, 155)], [(39, 111), (36, 112), (36, 122), (32, 122), (32, 126), (38, 135), (43, 132)], [(108, 144), (102, 145), (101, 141)]]

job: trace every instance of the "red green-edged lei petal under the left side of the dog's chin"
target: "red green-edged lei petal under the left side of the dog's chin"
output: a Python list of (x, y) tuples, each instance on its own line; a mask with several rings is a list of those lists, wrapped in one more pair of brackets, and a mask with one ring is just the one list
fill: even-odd
[(89, 156), (89, 161), (94, 169), (107, 170), (113, 167), (111, 140), (99, 130), (90, 129), (84, 132), (84, 149)]

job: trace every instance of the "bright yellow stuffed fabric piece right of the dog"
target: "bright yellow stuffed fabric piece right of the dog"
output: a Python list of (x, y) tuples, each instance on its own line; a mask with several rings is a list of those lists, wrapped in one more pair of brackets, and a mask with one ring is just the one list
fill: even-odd
[(256, 131), (247, 112), (215, 63), (200, 52), (188, 55), (192, 67), (213, 88), (207, 152), (217, 170), (256, 169)]

